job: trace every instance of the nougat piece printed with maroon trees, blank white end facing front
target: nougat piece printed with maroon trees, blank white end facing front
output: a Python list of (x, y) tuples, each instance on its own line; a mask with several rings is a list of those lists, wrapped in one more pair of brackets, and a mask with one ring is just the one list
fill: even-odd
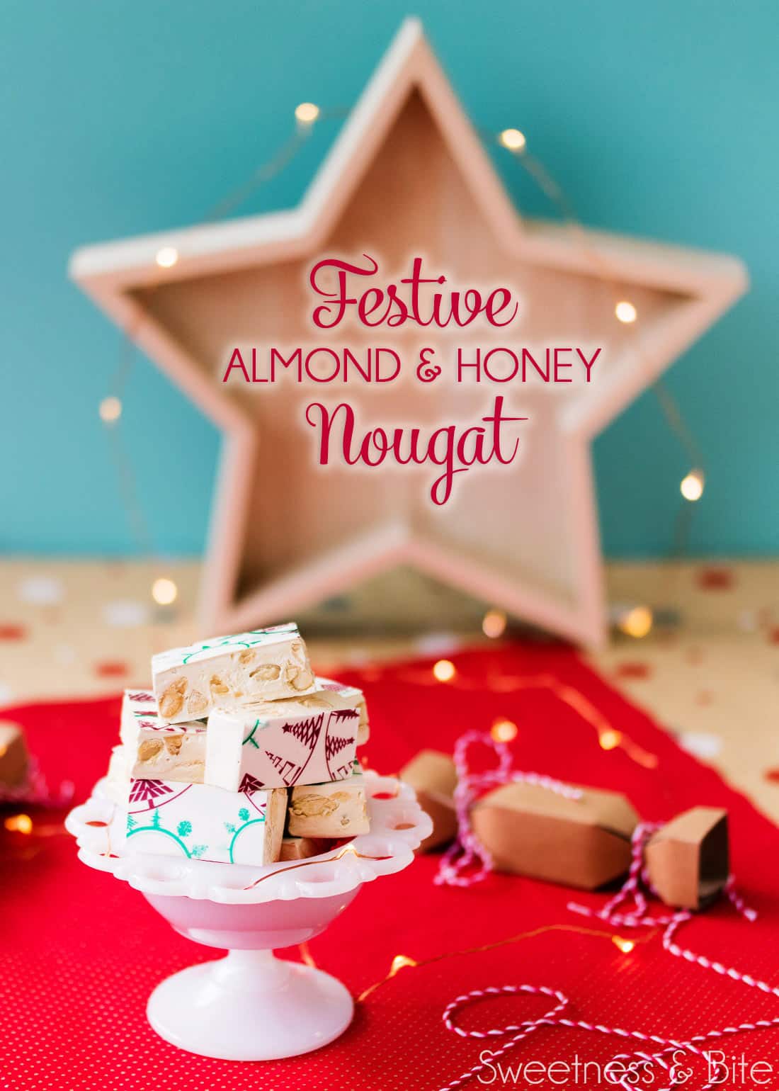
[(359, 719), (355, 696), (335, 688), (216, 708), (208, 717), (205, 783), (236, 791), (247, 775), (263, 788), (344, 780), (351, 776)]

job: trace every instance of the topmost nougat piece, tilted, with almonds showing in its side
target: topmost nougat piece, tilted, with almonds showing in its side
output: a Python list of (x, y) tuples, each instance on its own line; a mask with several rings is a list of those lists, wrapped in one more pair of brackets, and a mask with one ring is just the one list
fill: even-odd
[(164, 651), (152, 658), (152, 675), (164, 723), (315, 688), (305, 644), (291, 622)]

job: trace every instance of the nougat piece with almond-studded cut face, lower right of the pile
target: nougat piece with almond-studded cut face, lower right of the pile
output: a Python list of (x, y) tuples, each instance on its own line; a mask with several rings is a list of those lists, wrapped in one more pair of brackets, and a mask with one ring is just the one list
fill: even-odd
[(357, 764), (348, 780), (297, 784), (289, 791), (287, 830), (292, 837), (356, 837), (370, 828), (365, 781)]

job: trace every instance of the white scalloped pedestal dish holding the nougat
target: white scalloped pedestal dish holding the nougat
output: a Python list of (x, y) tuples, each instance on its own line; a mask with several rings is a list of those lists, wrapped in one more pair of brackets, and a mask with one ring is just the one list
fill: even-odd
[(249, 867), (124, 854), (127, 815), (98, 783), (65, 826), (80, 859), (140, 890), (181, 935), (228, 954), (180, 970), (152, 993), (146, 1012), (172, 1045), (226, 1060), (293, 1057), (349, 1026), (348, 990), (322, 970), (278, 959), (323, 932), (363, 883), (399, 872), (432, 824), (414, 791), (367, 775), (371, 832), (301, 862)]

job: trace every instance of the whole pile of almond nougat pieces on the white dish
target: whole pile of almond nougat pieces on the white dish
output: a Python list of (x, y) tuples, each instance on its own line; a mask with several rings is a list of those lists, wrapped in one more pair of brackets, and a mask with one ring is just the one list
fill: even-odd
[(264, 865), (369, 830), (362, 692), (315, 678), (289, 623), (152, 659), (127, 690), (105, 791), (124, 852)]

